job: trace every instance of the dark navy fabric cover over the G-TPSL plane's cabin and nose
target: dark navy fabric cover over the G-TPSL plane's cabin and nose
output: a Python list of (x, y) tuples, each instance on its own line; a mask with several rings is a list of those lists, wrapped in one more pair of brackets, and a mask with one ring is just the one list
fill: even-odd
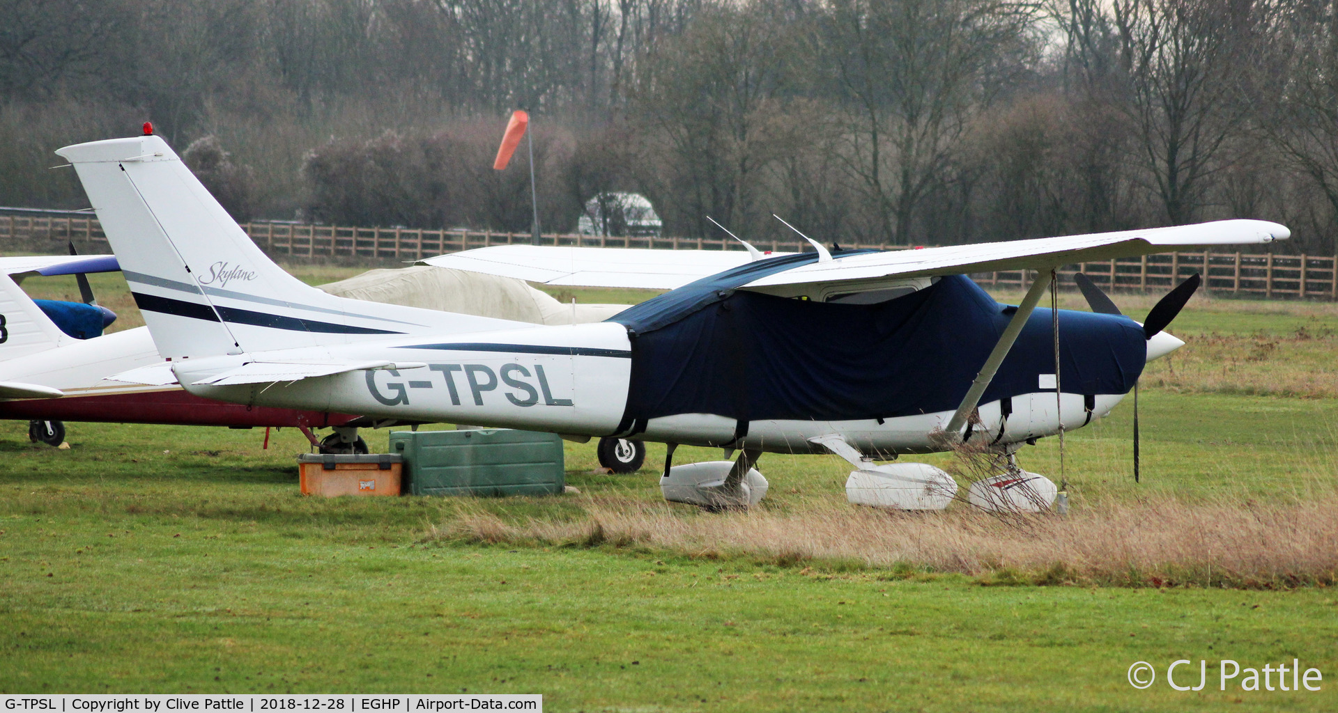
[[(769, 262), (737, 270), (757, 272)], [(1013, 313), (965, 276), (882, 304), (852, 305), (731, 290), (760, 277), (731, 276), (737, 270), (610, 320), (628, 325), (634, 340), (625, 423), (677, 413), (748, 421), (951, 411)], [(709, 281), (721, 289), (712, 292)], [(1050, 325), (1049, 309), (1033, 312), (982, 403), (1045, 391), (1040, 375), (1054, 373)], [(1133, 388), (1147, 357), (1136, 322), (1060, 310), (1060, 336), (1062, 391)]]

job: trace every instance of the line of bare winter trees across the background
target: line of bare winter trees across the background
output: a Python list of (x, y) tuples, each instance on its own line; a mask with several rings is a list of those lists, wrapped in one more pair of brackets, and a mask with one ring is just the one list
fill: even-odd
[(1267, 218), (1333, 251), (1338, 0), (0, 0), (0, 203), (151, 120), (240, 219), (947, 245)]

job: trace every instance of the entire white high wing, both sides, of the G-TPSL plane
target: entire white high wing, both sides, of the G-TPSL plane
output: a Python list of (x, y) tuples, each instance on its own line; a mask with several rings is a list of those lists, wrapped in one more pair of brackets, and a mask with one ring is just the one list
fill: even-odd
[[(1215, 221), (1175, 227), (1123, 230), (1060, 238), (1036, 238), (886, 250), (836, 257), (761, 274), (741, 289), (828, 282), (867, 282), (995, 270), (1049, 269), (1175, 250), (1224, 245), (1262, 245), (1286, 239), (1286, 226), (1267, 221)], [(777, 257), (791, 253), (771, 253)], [(743, 250), (648, 250), (629, 247), (557, 247), (500, 245), (439, 256), (425, 265), (515, 277), (530, 282), (589, 288), (674, 289), (749, 262)]]

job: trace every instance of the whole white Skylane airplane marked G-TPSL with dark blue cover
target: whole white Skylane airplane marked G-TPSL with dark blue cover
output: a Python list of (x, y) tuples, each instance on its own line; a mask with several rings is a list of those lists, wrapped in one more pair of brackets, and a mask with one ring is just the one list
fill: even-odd
[[(943, 507), (957, 490), (943, 471), (871, 457), (963, 439), (1012, 453), (1061, 420), (1073, 429), (1107, 415), (1147, 360), (1183, 344), (1161, 328), (1188, 290), (1163, 300), (1147, 328), (1060, 310), (1056, 340), (1054, 316), (1036, 309), (1052, 269), (1290, 235), (1272, 222), (1220, 221), (925, 250), (512, 246), (438, 262), (551, 284), (682, 285), (605, 322), (535, 326), (304, 285), (158, 136), (58, 154), (78, 171), (169, 360), (115, 379), (177, 380), (240, 404), (664, 441), (670, 459), (674, 444), (739, 451), (733, 463), (666, 463), (665, 495), (704, 507), (756, 503), (763, 452), (834, 452), (887, 491), (871, 503)], [(1018, 306), (966, 277), (1016, 269), (1037, 270)]]

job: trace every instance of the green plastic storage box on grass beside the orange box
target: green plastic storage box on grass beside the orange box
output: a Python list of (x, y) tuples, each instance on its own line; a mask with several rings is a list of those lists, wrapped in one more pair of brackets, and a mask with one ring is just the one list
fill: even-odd
[(391, 431), (391, 453), (404, 456), (409, 495), (555, 495), (566, 486), (557, 433)]

